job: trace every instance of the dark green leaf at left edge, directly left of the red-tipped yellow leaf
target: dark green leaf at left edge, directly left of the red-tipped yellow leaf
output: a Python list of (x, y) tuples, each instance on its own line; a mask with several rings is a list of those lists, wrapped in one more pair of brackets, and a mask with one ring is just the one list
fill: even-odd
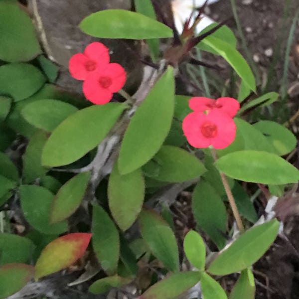
[(18, 235), (0, 234), (0, 265), (27, 263), (34, 250), (34, 244)]

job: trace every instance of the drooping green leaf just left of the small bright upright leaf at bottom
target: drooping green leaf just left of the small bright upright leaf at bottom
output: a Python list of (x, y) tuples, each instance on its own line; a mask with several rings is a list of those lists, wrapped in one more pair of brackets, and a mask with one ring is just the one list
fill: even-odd
[(143, 210), (139, 217), (141, 235), (152, 254), (164, 266), (172, 271), (179, 271), (178, 248), (176, 240), (167, 222), (152, 210)]

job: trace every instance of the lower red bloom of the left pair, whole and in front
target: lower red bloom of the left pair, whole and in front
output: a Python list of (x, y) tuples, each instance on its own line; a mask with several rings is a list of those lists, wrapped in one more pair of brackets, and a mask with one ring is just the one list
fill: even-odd
[(109, 63), (90, 73), (83, 83), (83, 93), (94, 104), (106, 104), (113, 93), (123, 88), (126, 83), (126, 71), (118, 63)]

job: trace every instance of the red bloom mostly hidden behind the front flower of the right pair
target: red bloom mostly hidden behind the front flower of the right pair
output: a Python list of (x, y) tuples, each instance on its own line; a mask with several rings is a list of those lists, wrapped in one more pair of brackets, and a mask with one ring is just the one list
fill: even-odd
[(189, 107), (196, 112), (218, 110), (234, 117), (240, 109), (240, 103), (233, 98), (219, 98), (217, 100), (195, 97), (189, 101)]

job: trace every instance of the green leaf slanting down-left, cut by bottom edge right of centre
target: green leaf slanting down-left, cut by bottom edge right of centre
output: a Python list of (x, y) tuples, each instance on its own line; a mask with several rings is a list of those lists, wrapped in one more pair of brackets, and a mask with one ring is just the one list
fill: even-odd
[(195, 286), (201, 278), (201, 273), (174, 273), (151, 286), (140, 299), (174, 299)]

